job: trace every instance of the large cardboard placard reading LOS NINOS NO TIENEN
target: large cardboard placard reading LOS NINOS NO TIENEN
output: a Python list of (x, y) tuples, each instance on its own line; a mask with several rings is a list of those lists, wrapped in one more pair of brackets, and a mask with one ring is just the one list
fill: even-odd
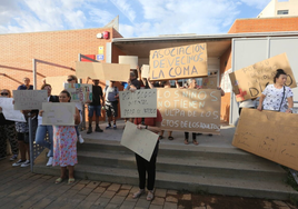
[(220, 90), (158, 88), (161, 129), (219, 135)]

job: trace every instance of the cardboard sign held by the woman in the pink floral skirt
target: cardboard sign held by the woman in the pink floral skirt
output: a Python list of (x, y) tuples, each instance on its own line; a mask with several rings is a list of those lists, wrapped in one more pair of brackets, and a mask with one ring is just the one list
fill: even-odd
[(74, 126), (76, 104), (43, 102), (42, 125)]

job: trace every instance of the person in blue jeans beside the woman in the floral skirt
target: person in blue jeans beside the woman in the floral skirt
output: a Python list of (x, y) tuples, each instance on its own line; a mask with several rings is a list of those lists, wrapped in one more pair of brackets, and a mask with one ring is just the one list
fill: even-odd
[[(57, 96), (51, 96), (52, 88), (50, 84), (44, 83), (41, 86), (41, 90), (47, 90), (48, 91), (48, 101), (49, 102), (59, 102), (59, 98)], [(46, 140), (46, 135), (48, 132), (49, 140)], [(37, 129), (37, 135), (36, 135), (36, 143), (43, 146), (49, 149), (49, 160), (47, 162), (47, 166), (52, 166), (52, 126), (43, 126), (42, 125), (42, 117), (41, 113), (38, 116), (38, 129)]]

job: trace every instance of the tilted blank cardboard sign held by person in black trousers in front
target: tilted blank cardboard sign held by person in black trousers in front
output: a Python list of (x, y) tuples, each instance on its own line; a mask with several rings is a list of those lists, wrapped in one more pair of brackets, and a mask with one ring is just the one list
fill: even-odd
[(150, 161), (158, 135), (146, 129), (138, 129), (136, 125), (127, 121), (121, 145)]

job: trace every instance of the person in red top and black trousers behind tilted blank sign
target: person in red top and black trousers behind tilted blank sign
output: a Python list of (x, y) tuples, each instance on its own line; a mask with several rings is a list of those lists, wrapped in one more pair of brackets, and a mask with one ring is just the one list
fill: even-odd
[[(135, 125), (138, 126), (137, 127), (138, 129), (147, 129), (147, 130), (158, 133), (160, 131), (161, 121), (162, 121), (161, 113), (159, 110), (157, 110), (156, 118), (136, 118)], [(140, 190), (133, 193), (132, 198), (139, 198), (141, 195), (145, 193), (146, 171), (148, 175), (147, 200), (151, 201), (155, 198), (153, 188), (155, 188), (155, 181), (156, 181), (156, 160), (157, 160), (157, 155), (158, 155), (158, 145), (159, 145), (159, 141), (157, 141), (157, 145), (156, 145), (156, 148), (153, 150), (150, 161), (147, 161), (146, 159), (143, 159), (142, 157), (136, 153)]]

